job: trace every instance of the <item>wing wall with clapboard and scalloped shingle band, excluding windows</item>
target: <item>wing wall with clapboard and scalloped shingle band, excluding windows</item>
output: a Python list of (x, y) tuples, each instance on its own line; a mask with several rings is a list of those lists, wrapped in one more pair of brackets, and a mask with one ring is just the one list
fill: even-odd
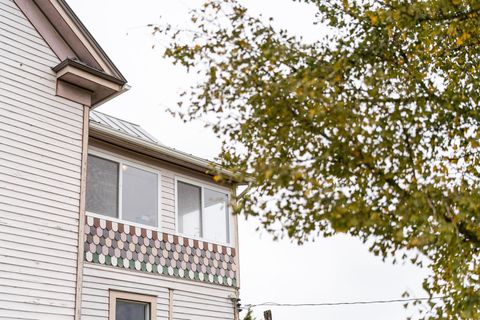
[[(230, 299), (238, 286), (236, 245), (176, 235), (175, 177), (201, 183), (212, 183), (211, 178), (96, 139), (91, 138), (89, 145), (97, 155), (159, 171), (161, 219), (155, 230), (87, 213), (83, 319), (108, 319), (109, 290), (155, 295), (157, 318), (168, 319), (168, 289), (173, 289), (175, 320), (233, 319)], [(228, 187), (224, 190), (229, 192)], [(235, 224), (232, 228), (236, 232)]]

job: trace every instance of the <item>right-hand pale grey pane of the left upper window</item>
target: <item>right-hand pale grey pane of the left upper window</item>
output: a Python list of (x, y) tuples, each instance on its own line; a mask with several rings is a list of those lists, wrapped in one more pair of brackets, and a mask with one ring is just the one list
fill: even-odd
[(156, 227), (158, 175), (122, 165), (122, 219)]

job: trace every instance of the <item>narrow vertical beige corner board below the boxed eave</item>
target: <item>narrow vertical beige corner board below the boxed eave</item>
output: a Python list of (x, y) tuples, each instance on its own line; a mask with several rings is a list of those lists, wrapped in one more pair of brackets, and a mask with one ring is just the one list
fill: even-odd
[(84, 250), (84, 228), (85, 228), (85, 190), (87, 177), (87, 156), (88, 156), (88, 125), (90, 107), (83, 106), (83, 133), (82, 133), (82, 163), (80, 178), (80, 213), (78, 218), (78, 250), (77, 250), (77, 278), (75, 288), (75, 320), (80, 320), (82, 312), (82, 286), (83, 286), (83, 250)]

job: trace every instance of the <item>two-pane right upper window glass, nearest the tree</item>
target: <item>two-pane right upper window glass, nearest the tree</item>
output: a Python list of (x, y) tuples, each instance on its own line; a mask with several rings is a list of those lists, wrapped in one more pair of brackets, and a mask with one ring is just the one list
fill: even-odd
[(177, 181), (178, 231), (187, 236), (229, 243), (228, 194)]

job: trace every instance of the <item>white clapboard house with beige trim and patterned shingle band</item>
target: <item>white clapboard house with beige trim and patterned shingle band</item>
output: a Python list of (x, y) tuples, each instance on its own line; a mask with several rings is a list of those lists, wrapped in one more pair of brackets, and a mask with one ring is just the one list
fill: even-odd
[(0, 319), (238, 319), (237, 182), (94, 111), (127, 89), (64, 0), (0, 0)]

